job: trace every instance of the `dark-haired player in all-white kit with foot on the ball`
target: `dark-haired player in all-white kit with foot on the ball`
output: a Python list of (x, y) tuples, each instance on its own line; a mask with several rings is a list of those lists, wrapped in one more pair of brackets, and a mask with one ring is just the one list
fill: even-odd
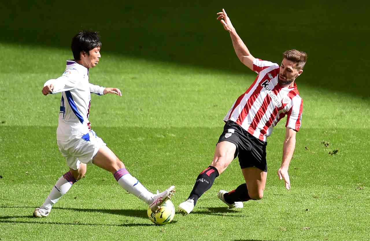
[(72, 39), (74, 60), (67, 60), (64, 74), (44, 84), (44, 95), (61, 94), (57, 144), (67, 160), (69, 171), (63, 174), (41, 207), (36, 208), (34, 217), (47, 217), (53, 205), (86, 173), (88, 163), (111, 172), (117, 182), (129, 193), (134, 194), (157, 212), (164, 201), (171, 198), (175, 186), (162, 193), (153, 194), (127, 171), (125, 165), (91, 129), (88, 121), (90, 93), (98, 95), (116, 94), (118, 88), (104, 88), (89, 83), (89, 70), (100, 60), (100, 36), (97, 32), (81, 31)]

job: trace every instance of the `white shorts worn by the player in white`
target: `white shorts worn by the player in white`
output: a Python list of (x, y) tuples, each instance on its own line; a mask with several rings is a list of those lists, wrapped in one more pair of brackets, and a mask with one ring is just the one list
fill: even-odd
[(74, 170), (80, 168), (81, 162), (91, 164), (92, 157), (96, 155), (100, 147), (107, 145), (93, 130), (80, 139), (57, 140), (57, 144), (62, 156), (67, 160), (68, 167)]

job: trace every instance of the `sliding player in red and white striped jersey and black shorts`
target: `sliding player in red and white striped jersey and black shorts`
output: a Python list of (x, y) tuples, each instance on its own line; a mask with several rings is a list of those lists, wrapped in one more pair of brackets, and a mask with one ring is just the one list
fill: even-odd
[(225, 10), (217, 20), (230, 33), (239, 60), (258, 76), (245, 93), (239, 96), (223, 119), (226, 124), (216, 145), (211, 165), (196, 178), (188, 199), (179, 204), (179, 211), (189, 214), (199, 197), (238, 156), (245, 183), (235, 190), (218, 192), (218, 198), (230, 208), (242, 208), (243, 201), (263, 197), (267, 177), (266, 138), (273, 127), (287, 116), (282, 164), (277, 172), (290, 189), (288, 167), (295, 149), (296, 132), (302, 118), (303, 101), (295, 79), (302, 74), (307, 54), (297, 50), (283, 53), (280, 64), (253, 57), (232, 26)]

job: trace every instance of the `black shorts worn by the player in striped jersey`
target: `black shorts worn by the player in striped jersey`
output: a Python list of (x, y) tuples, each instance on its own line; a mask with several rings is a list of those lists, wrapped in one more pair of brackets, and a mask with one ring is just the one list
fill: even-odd
[(255, 138), (233, 121), (226, 122), (219, 142), (228, 141), (236, 145), (234, 158), (238, 156), (240, 168), (257, 167), (267, 172), (267, 142)]

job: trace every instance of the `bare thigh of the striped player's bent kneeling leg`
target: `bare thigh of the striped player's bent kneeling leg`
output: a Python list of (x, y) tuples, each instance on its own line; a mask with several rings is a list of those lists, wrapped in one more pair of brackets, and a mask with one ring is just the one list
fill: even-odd
[(246, 167), (242, 169), (242, 173), (247, 184), (249, 197), (255, 200), (261, 199), (266, 186), (267, 172), (257, 167)]

